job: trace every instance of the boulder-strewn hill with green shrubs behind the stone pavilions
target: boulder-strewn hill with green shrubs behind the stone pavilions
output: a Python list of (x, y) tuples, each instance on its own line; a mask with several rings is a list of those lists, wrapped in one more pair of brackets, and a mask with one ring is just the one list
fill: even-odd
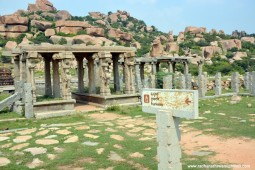
[(28, 4), (27, 10), (0, 16), (0, 48), (10, 50), (32, 43), (133, 46), (137, 57), (197, 55), (203, 56), (208, 65), (215, 61), (233, 63), (255, 55), (255, 35), (244, 31), (226, 35), (223, 30), (189, 26), (173, 35), (172, 31), (164, 33), (146, 25), (126, 11), (72, 16), (57, 10), (48, 0), (36, 0)]

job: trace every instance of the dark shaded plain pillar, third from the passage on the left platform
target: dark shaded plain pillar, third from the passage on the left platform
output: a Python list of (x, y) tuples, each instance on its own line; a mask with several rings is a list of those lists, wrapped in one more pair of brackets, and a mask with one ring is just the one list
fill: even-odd
[(52, 97), (50, 62), (51, 59), (49, 57), (44, 57), (45, 96)]

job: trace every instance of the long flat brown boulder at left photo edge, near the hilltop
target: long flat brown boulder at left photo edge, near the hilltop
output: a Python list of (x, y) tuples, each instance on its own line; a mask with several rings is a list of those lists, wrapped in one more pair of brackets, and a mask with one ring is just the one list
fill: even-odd
[(6, 25), (28, 25), (28, 18), (18, 15), (5, 15), (0, 17), (0, 24)]

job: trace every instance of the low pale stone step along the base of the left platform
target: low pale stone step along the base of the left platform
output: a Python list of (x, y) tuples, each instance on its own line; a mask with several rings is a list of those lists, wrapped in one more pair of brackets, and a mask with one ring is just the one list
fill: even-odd
[(61, 111), (51, 111), (51, 112), (41, 112), (35, 113), (36, 119), (45, 119), (50, 117), (68, 116), (75, 114), (75, 110), (61, 110)]

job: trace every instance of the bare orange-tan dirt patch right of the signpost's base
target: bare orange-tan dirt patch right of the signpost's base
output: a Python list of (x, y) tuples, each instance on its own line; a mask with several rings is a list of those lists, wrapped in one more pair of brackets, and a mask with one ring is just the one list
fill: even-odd
[(194, 151), (208, 150), (216, 153), (211, 157), (211, 161), (250, 165), (250, 169), (255, 169), (255, 140), (223, 139), (193, 130), (182, 134), (181, 145), (188, 155)]

